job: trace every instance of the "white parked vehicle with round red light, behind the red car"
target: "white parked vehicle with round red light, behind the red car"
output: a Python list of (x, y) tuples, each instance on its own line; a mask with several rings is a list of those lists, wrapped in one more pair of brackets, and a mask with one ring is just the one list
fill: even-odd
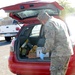
[[(18, 24), (17, 21), (13, 20), (13, 22), (0, 25), (0, 36), (5, 37), (7, 42), (11, 41), (12, 37), (15, 37), (18, 31), (21, 29), (22, 24)], [(4, 22), (4, 21), (3, 21)]]

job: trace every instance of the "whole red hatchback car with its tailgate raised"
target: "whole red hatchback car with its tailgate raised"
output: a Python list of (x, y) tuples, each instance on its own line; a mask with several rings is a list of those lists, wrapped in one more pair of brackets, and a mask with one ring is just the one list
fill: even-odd
[[(8, 66), (17, 75), (50, 75), (50, 53), (41, 60), (39, 52), (44, 46), (43, 25), (37, 20), (41, 10), (58, 17), (63, 9), (57, 2), (31, 1), (2, 8), (10, 17), (24, 23), (16, 38), (12, 40)], [(42, 13), (42, 12), (41, 12)], [(31, 53), (36, 46), (36, 51)], [(23, 49), (24, 48), (24, 49)], [(75, 46), (73, 44), (75, 51)], [(75, 75), (75, 54), (71, 57), (66, 75)]]

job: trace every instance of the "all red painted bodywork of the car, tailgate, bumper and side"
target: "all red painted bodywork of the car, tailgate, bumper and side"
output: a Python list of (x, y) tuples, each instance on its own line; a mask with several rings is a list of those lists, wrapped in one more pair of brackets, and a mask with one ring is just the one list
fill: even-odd
[[(37, 8), (38, 6), (41, 7), (43, 5), (46, 5), (48, 3), (38, 3), (38, 2), (26, 2), (26, 3), (19, 3), (13, 6), (8, 6), (4, 7), (1, 9), (4, 9), (6, 12), (10, 12), (10, 17), (25, 23), (25, 25), (30, 25), (30, 24), (37, 24), (39, 21), (34, 17), (34, 18), (28, 18), (28, 19), (23, 19), (20, 20), (18, 17), (14, 16), (12, 14), (13, 11), (20, 11), (21, 6), (23, 6), (24, 9), (30, 9), (32, 7), (29, 7), (29, 4), (34, 4), (34, 7)], [(61, 7), (57, 2), (51, 2), (51, 4), (54, 4), (58, 9), (62, 10), (63, 7)], [(57, 17), (58, 18), (58, 17)], [(68, 70), (66, 75), (75, 75), (75, 46), (74, 46), (74, 55), (71, 56)], [(21, 75), (50, 75), (50, 62), (29, 62), (29, 61), (19, 61), (16, 58), (16, 54), (14, 52), (10, 51), (10, 56), (8, 60), (8, 66), (11, 72), (15, 74), (21, 74)]]

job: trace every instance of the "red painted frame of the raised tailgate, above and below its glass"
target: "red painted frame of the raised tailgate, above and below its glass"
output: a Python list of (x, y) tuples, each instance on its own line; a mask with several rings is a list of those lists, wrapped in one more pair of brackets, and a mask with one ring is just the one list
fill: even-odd
[[(27, 19), (23, 19), (21, 20), (20, 18), (16, 17), (15, 15), (12, 14), (12, 12), (16, 12), (16, 11), (21, 11), (21, 10), (27, 10), (27, 9), (38, 9), (38, 7), (40, 8), (41, 6), (45, 6), (47, 4), (53, 4), (56, 8), (58, 8), (59, 10), (63, 10), (64, 8), (62, 6), (60, 6), (56, 1), (55, 2), (38, 2), (38, 1), (31, 1), (31, 2), (25, 2), (25, 3), (19, 3), (16, 5), (12, 5), (12, 6), (7, 6), (7, 7), (3, 7), (0, 9), (5, 10), (6, 12), (10, 12), (10, 17), (18, 20), (19, 22), (23, 22), (23, 23), (32, 23), (33, 21), (36, 22), (36, 18), (27, 18)], [(33, 5), (33, 6), (31, 6)], [(21, 8), (23, 6), (23, 8)]]

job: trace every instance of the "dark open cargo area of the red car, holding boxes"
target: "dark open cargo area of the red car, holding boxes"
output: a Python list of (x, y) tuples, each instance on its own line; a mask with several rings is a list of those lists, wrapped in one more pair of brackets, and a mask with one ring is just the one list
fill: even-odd
[[(43, 25), (23, 26), (15, 41), (17, 59), (20, 61), (41, 61), (39, 54), (44, 42)], [(50, 61), (50, 53), (46, 53), (44, 59), (44, 61)]]

